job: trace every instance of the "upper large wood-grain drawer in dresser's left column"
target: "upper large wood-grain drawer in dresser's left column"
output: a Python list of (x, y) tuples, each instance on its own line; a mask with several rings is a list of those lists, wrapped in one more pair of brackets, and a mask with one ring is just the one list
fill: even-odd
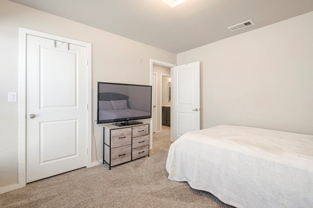
[(111, 130), (111, 147), (132, 144), (132, 128), (119, 128)]

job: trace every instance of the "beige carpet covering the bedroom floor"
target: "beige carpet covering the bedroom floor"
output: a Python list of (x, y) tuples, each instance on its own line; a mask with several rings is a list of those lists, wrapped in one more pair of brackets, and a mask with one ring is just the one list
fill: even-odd
[(150, 157), (80, 168), (0, 194), (1, 208), (231, 208), (185, 182), (168, 180), (169, 127), (153, 134)]

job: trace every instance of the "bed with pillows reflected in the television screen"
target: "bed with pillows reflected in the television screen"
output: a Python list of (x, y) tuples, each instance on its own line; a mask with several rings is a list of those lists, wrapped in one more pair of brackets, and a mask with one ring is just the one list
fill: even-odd
[(114, 120), (149, 116), (150, 113), (130, 108), (129, 97), (119, 93), (99, 93), (99, 120)]

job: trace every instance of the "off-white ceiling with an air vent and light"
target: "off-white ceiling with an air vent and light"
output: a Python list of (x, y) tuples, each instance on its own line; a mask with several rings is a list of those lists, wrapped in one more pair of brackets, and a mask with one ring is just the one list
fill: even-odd
[[(162, 0), (11, 1), (173, 53), (313, 11), (313, 0), (186, 0), (174, 8)], [(227, 29), (248, 20), (255, 25)]]

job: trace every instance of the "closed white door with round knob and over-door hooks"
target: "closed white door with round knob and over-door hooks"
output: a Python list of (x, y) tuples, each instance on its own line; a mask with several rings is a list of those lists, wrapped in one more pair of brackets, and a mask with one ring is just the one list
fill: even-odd
[(87, 49), (27, 35), (26, 182), (87, 164)]

